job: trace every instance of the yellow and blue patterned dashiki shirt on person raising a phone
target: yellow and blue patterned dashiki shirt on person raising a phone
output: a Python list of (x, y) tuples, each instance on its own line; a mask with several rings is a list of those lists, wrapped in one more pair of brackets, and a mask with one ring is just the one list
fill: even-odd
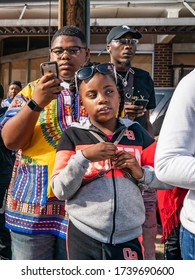
[[(37, 82), (29, 83), (14, 98), (1, 126), (32, 97)], [(58, 141), (72, 123), (71, 99), (70, 91), (65, 89), (47, 105), (40, 113), (29, 146), (18, 151), (7, 198), (6, 226), (11, 230), (66, 237), (65, 203), (54, 196), (50, 178)], [(78, 95), (75, 100), (79, 118), (86, 118)]]

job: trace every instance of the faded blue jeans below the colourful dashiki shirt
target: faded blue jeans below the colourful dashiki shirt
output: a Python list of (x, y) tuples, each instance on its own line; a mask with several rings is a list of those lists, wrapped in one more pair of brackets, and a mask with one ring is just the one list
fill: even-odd
[(66, 240), (52, 234), (11, 231), (12, 260), (66, 260)]

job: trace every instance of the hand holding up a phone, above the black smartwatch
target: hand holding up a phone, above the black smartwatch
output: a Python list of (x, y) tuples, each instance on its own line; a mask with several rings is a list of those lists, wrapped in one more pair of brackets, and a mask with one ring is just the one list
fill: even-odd
[(54, 74), (47, 73), (42, 76), (36, 84), (32, 99), (41, 108), (48, 105), (53, 99), (57, 99), (57, 94), (63, 87), (60, 86), (60, 80)]

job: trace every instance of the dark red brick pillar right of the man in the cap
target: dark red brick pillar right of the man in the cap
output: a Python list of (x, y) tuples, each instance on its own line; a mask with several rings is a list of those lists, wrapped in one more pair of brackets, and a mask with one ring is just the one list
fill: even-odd
[(172, 44), (155, 44), (154, 47), (154, 85), (172, 87)]

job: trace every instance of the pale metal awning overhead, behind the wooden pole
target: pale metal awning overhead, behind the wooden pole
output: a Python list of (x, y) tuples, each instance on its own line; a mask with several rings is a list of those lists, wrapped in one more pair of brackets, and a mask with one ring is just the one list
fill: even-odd
[[(90, 1), (90, 31), (107, 34), (112, 26), (125, 24), (142, 34), (192, 34), (193, 11), (194, 0)], [(58, 1), (0, 0), (0, 38), (52, 35), (57, 17)]]

